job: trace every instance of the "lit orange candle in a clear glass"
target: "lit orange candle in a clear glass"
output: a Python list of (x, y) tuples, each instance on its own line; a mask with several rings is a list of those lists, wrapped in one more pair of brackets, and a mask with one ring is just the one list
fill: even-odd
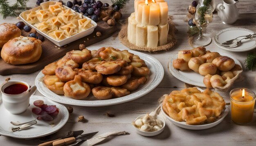
[(231, 119), (237, 124), (252, 121), (255, 93), (247, 88), (235, 88), (230, 91)]

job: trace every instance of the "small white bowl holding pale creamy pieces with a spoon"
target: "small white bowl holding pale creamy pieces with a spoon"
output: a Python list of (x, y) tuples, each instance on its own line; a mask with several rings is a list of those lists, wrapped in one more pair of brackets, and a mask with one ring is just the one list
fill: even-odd
[[(137, 117), (134, 122), (137, 120), (137, 119), (141, 119), (145, 116), (146, 114), (144, 115), (140, 115), (139, 117)], [(155, 136), (155, 135), (158, 135), (160, 133), (162, 133), (164, 131), (164, 127), (165, 127), (165, 121), (164, 121), (164, 118), (162, 118), (161, 116), (157, 115), (157, 119), (161, 120), (163, 122), (163, 127), (158, 130), (158, 131), (153, 131), (153, 132), (146, 132), (146, 131), (141, 131), (139, 130), (136, 126), (134, 126), (132, 124), (132, 126), (136, 129), (136, 132), (139, 133), (140, 135), (143, 135), (143, 136)]]

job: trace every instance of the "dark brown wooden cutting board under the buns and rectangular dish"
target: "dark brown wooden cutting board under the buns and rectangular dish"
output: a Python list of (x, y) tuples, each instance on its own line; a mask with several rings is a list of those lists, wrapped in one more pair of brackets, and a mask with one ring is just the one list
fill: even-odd
[[(43, 69), (47, 64), (54, 62), (58, 58), (64, 56), (68, 51), (71, 50), (79, 50), (79, 44), (85, 44), (85, 46), (90, 46), (94, 43), (100, 42), (101, 40), (110, 37), (116, 31), (119, 31), (119, 27), (110, 27), (106, 22), (100, 21), (97, 22), (97, 27), (94, 29), (94, 32), (84, 38), (71, 42), (65, 46), (56, 46), (53, 42), (45, 40), (42, 43), (42, 55), (37, 62), (23, 65), (12, 65), (4, 62), (2, 58), (0, 58), (0, 75), (9, 75), (9, 74), (26, 74), (33, 73), (40, 69)], [(96, 32), (100, 31), (101, 36), (97, 36)], [(23, 36), (28, 36), (29, 33), (22, 30)]]

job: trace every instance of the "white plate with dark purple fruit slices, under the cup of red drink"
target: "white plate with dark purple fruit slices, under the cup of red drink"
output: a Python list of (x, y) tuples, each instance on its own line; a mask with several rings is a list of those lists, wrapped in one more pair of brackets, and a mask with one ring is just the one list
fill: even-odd
[[(36, 119), (37, 115), (33, 114), (31, 109), (34, 106), (33, 102), (36, 100), (43, 100), (45, 104), (48, 105), (56, 105), (57, 108), (59, 108), (59, 113), (54, 119), (50, 122), (45, 122), (43, 120), (37, 120), (37, 124), (26, 128), (21, 131), (16, 131), (16, 132), (10, 132), (11, 127), (18, 127), (18, 126), (13, 126), (10, 122), (28, 122), (33, 119)], [(27, 111), (25, 113), (19, 114), (19, 115), (12, 115), (7, 111), (3, 104), (2, 104), (2, 97), (0, 97), (0, 116), (2, 119), (0, 120), (0, 135), (5, 135), (9, 137), (14, 137), (14, 138), (20, 138), (20, 139), (32, 139), (36, 137), (42, 137), (45, 135), (52, 134), (59, 129), (61, 129), (67, 122), (69, 113), (67, 111), (67, 108), (61, 104), (58, 104), (56, 102), (53, 102), (52, 100), (49, 100), (46, 97), (42, 96), (31, 96), (30, 97), (30, 106), (28, 107)]]

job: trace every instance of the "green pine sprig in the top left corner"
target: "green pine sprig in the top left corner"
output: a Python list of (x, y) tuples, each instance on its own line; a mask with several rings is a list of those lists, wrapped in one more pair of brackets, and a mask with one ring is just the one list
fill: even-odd
[(7, 16), (18, 16), (26, 9), (29, 0), (17, 0), (12, 6), (7, 0), (0, 0), (0, 15), (5, 19)]

